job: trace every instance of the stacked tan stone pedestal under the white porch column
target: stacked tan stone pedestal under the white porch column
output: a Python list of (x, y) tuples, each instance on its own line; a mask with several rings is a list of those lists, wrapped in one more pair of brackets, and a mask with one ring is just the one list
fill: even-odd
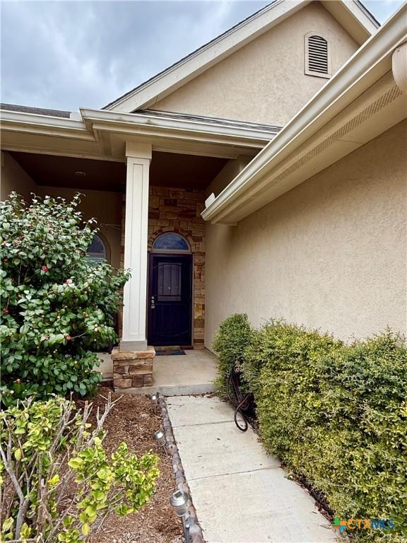
[(112, 351), (114, 392), (131, 392), (131, 388), (153, 384), (154, 347), (145, 351)]

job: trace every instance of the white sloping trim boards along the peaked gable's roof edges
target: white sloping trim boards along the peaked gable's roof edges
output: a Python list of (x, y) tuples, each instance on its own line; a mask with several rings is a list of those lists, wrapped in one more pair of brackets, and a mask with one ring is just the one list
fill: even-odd
[[(117, 112), (146, 109), (310, 3), (311, 0), (273, 1), (103, 109)], [(379, 25), (359, 1), (321, 0), (321, 4), (360, 45)]]

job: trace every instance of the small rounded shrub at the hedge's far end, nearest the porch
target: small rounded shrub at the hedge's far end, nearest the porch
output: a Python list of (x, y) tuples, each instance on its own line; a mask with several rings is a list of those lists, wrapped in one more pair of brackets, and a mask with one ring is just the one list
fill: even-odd
[[(227, 397), (226, 383), (232, 366), (241, 370), (247, 346), (252, 339), (252, 328), (247, 315), (235, 313), (221, 322), (213, 339), (213, 350), (218, 356), (216, 387), (222, 397)], [(242, 388), (245, 388), (244, 380)]]

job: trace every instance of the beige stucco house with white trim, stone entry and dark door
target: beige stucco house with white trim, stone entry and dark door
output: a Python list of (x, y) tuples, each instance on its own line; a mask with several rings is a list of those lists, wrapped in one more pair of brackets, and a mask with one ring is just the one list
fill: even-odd
[(235, 312), (407, 333), (406, 18), (277, 0), (102, 110), (1, 106), (1, 198), (79, 190), (131, 269), (117, 388)]

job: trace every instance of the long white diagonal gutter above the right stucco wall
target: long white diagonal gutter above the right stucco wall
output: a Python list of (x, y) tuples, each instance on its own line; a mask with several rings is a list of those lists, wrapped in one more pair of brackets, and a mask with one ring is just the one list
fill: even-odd
[[(295, 148), (309, 139), (329, 119), (341, 112), (356, 96), (391, 69), (391, 52), (406, 40), (407, 4), (372, 35), (330, 81), (302, 107), (283, 130), (271, 141), (201, 214), (213, 221), (220, 212), (242, 197), (261, 177), (280, 165)], [(381, 64), (382, 63), (382, 64)], [(373, 73), (374, 72), (374, 73)]]

